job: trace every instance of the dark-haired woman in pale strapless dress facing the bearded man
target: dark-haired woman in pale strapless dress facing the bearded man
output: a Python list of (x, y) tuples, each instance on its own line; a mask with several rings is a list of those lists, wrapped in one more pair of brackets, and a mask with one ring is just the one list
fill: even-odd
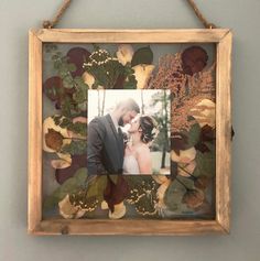
[(139, 116), (132, 120), (128, 130), (123, 160), (123, 174), (152, 174), (152, 159), (149, 144), (155, 135), (155, 121), (149, 116)]

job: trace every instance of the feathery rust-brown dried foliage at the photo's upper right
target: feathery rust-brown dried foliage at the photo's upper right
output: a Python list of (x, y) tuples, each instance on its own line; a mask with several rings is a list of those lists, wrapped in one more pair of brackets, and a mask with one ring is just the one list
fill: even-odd
[(170, 89), (172, 97), (172, 132), (189, 130), (191, 109), (202, 99), (215, 100), (215, 64), (204, 70), (188, 75), (184, 73), (182, 53), (167, 54), (159, 61), (156, 74), (149, 88)]

